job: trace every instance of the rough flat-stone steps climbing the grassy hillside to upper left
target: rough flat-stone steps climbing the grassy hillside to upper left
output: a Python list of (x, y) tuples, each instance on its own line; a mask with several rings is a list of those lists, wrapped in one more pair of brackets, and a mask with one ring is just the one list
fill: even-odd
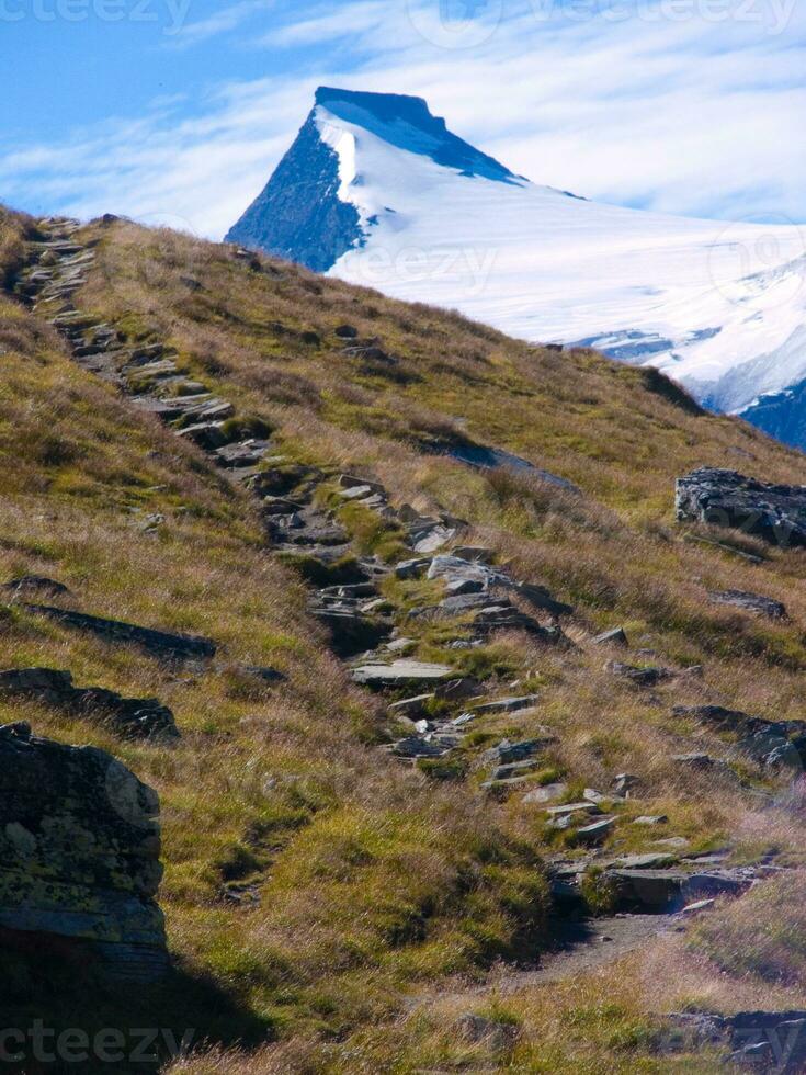
[[(177, 438), (193, 443), (248, 490), (269, 547), (297, 565), (308, 579), (310, 613), (326, 629), (333, 652), (350, 661), (356, 684), (387, 698), (389, 742), (385, 749), (407, 765), (464, 757), (468, 734), (486, 720), (501, 712), (516, 720), (538, 706), (538, 697), (531, 693), (489, 693), (484, 683), (463, 676), (447, 660), (412, 659), (409, 649), (416, 643), (406, 637), (406, 623), (420, 619), (457, 623), (456, 637), (447, 644), (456, 653), (484, 646), (491, 634), (503, 630), (525, 631), (545, 645), (563, 647), (571, 645), (560, 627), (561, 619), (572, 612), (568, 606), (495, 564), (490, 550), (466, 544), (466, 525), (450, 513), (423, 516), (409, 505), (395, 507), (374, 478), (302, 465), (286, 459), (270, 437), (245, 433), (248, 423), (238, 422), (236, 407), (183, 371), (168, 343), (132, 344), (114, 325), (76, 305), (75, 296), (95, 263), (93, 246), (80, 238), (77, 222), (48, 218), (37, 229), (39, 238), (31, 244), (32, 262), (16, 284), (20, 298), (58, 330), (79, 365), (116, 386), (134, 407), (158, 417)], [(340, 326), (337, 333), (343, 335), (347, 328)], [(397, 563), (362, 555), (340, 521), (342, 505), (374, 512), (401, 535), (410, 555)], [(439, 582), (442, 595), (419, 608), (396, 608), (388, 597), (394, 590), (386, 585), (393, 578), (396, 584)], [(82, 625), (80, 613), (52, 607), (36, 611)], [(89, 622), (83, 626), (92, 630)], [(151, 632), (155, 634), (159, 633)], [(616, 634), (592, 642), (626, 646), (623, 632)], [(130, 632), (120, 638), (144, 645), (149, 641)], [(201, 654), (206, 657), (215, 653), (207, 640), (185, 640), (180, 645), (207, 645)], [(71, 683), (65, 689), (75, 690)], [(431, 715), (434, 712), (439, 717)], [(684, 910), (686, 901), (703, 905), (703, 899), (707, 904), (715, 895), (738, 894), (763, 875), (763, 871), (746, 871), (740, 876), (725, 870), (708, 872), (702, 863), (686, 863), (674, 855), (626, 862), (600, 855), (598, 845), (620, 824), (618, 805), (624, 796), (610, 796), (604, 812), (592, 792), (579, 811), (582, 824), (572, 817), (569, 807), (574, 804), (552, 805), (550, 789), (534, 784), (533, 777), (542, 752), (553, 742), (550, 732), (541, 729), (536, 736), (503, 739), (490, 747), (480, 759), (486, 780), (479, 789), (498, 796), (521, 790), (526, 801), (540, 801), (547, 824), (575, 827), (578, 844), (589, 853), (584, 859), (558, 859), (552, 864), (560, 902), (569, 895), (577, 898), (590, 868), (606, 871), (625, 906), (652, 913), (666, 913), (672, 906)], [(557, 785), (560, 799), (563, 788)], [(530, 795), (537, 799), (530, 800)]]

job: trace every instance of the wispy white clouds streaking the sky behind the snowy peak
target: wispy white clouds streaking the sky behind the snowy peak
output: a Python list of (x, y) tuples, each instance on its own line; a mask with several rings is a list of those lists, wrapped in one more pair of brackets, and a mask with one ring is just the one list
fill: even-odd
[[(480, 23), (440, 22), (436, 2), (298, 5), (252, 39), (297, 73), (220, 87), (195, 117), (166, 108), (11, 154), (0, 161), (4, 196), (78, 215), (170, 214), (220, 237), (290, 145), (315, 87), (330, 83), (424, 97), (536, 182), (663, 212), (806, 219), (803, 7), (773, 33), (791, 0), (691, 0), (685, 19), (659, 13), (688, 0), (590, 0), (588, 19), (568, 15), (588, 0), (481, 0)], [(760, 20), (739, 19), (739, 3)], [(191, 24), (188, 42), (236, 27), (256, 7)], [(704, 14), (717, 10), (731, 18)], [(468, 34), (481, 39), (458, 47)]]

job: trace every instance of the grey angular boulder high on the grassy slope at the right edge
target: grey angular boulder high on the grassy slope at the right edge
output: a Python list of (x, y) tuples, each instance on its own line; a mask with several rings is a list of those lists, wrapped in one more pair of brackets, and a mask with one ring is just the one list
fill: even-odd
[(736, 471), (703, 467), (677, 483), (680, 522), (730, 527), (764, 541), (806, 546), (806, 486), (765, 485)]

